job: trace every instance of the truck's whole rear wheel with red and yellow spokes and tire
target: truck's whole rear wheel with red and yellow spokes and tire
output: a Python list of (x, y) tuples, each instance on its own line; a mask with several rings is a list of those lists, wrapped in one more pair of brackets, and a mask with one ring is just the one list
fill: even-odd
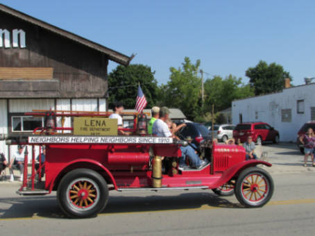
[(75, 169), (66, 174), (58, 186), (60, 208), (69, 217), (93, 217), (108, 201), (104, 178), (90, 169)]

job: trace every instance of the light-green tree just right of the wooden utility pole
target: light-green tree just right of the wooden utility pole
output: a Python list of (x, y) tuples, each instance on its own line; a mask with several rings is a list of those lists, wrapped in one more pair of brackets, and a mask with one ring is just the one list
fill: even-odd
[(212, 110), (212, 104), (214, 104), (215, 112), (218, 112), (229, 108), (235, 99), (245, 99), (254, 95), (250, 85), (245, 85), (241, 82), (241, 78), (232, 75), (225, 79), (220, 76), (214, 76), (214, 78), (205, 81), (204, 87), (205, 113)]

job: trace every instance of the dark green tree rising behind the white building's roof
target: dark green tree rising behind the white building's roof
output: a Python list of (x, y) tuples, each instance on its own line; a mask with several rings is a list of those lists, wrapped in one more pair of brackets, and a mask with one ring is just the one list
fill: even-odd
[(250, 86), (255, 89), (255, 95), (281, 91), (284, 78), (291, 80), (289, 72), (284, 71), (281, 65), (275, 62), (268, 65), (262, 60), (255, 67), (248, 68), (246, 76), (250, 78)]

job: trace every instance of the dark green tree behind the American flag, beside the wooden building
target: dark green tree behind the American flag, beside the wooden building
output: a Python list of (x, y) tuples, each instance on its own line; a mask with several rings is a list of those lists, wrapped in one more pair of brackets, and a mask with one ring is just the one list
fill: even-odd
[(109, 101), (121, 101), (125, 108), (135, 108), (138, 83), (140, 83), (148, 104), (146, 108), (155, 106), (158, 99), (158, 86), (154, 78), (155, 71), (151, 67), (133, 64), (128, 67), (119, 65), (108, 75)]

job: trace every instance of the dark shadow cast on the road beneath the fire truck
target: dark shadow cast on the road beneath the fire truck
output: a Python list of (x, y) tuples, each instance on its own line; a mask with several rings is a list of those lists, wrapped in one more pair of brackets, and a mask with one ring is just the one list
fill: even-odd
[[(66, 218), (60, 210), (55, 196), (27, 196), (18, 198), (2, 198), (0, 220), (10, 218)], [(110, 196), (103, 214), (119, 214), (130, 212), (154, 212), (160, 210), (189, 210), (198, 209), (203, 205), (217, 208), (244, 208), (240, 204), (231, 203), (210, 192), (191, 192), (176, 196)]]

